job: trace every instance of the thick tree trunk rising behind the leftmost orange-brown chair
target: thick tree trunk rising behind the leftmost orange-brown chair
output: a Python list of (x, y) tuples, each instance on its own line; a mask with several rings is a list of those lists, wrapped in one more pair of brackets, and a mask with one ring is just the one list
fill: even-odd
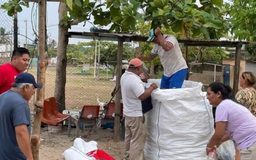
[(63, 18), (63, 14), (67, 14), (66, 4), (60, 2), (59, 5), (59, 39), (57, 48), (57, 65), (56, 65), (56, 79), (55, 79), (55, 92), (54, 97), (56, 99), (58, 110), (62, 112), (65, 110), (65, 84), (66, 84), (66, 65), (67, 56), (66, 49), (69, 42), (68, 28), (65, 25), (60, 25), (60, 20)]

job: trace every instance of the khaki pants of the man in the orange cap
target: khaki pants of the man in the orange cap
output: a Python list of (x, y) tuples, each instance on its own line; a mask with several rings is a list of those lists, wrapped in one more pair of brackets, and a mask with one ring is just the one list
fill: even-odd
[(142, 121), (142, 116), (125, 116), (125, 160), (142, 160), (145, 144)]

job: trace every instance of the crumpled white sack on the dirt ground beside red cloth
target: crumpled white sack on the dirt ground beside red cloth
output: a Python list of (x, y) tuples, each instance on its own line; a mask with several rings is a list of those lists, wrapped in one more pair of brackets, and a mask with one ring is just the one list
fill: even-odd
[(74, 145), (64, 151), (65, 160), (95, 160), (95, 158), (86, 155), (92, 150), (97, 150), (98, 144), (95, 141), (85, 142), (81, 138), (76, 138)]

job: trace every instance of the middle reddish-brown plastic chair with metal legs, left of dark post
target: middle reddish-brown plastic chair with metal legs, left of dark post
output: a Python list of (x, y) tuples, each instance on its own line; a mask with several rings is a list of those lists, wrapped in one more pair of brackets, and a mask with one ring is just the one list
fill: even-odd
[[(78, 117), (76, 116), (69, 116), (69, 126), (68, 126), (68, 136), (70, 136), (70, 130), (71, 130), (71, 123), (76, 125), (76, 132), (75, 137), (77, 138), (79, 136), (79, 124), (85, 123), (91, 120), (95, 120), (99, 118), (99, 111), (100, 106), (99, 105), (85, 105)], [(91, 115), (91, 117), (89, 116)]]

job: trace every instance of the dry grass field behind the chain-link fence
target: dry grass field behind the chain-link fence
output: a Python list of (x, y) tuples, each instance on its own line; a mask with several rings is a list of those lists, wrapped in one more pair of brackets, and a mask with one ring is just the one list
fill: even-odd
[[(36, 67), (29, 69), (29, 73), (36, 77)], [(111, 92), (115, 87), (115, 81), (112, 79), (112, 72), (108, 70), (108, 80), (106, 79), (106, 70), (100, 69), (100, 80), (94, 79), (94, 68), (90, 68), (88, 74), (81, 74), (82, 68), (66, 68), (66, 86), (65, 86), (65, 107), (66, 109), (80, 110), (84, 104), (98, 104), (107, 102), (111, 98)], [(54, 97), (55, 90), (55, 67), (47, 67), (45, 78), (45, 99)], [(30, 107), (33, 107), (33, 98), (30, 100)]]

